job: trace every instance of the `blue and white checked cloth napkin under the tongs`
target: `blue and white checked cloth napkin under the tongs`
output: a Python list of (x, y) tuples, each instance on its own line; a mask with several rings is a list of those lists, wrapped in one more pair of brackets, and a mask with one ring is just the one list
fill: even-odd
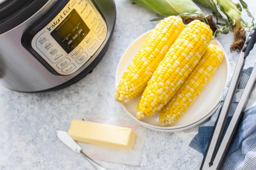
[[(236, 110), (237, 104), (241, 98), (242, 92), (249, 80), (252, 72), (252, 67), (242, 71), (240, 81), (236, 94), (231, 104), (231, 108), (225, 124), (224, 133), (226, 133), (227, 127), (232, 119), (232, 116)], [(185, 143), (192, 148), (201, 152), (203, 155), (207, 149), (208, 142), (211, 137), (211, 132), (215, 121), (217, 120), (219, 111), (223, 106), (223, 102), (229, 89), (231, 78), (226, 84), (223, 90), (221, 104), (217, 111), (199, 127), (189, 129), (187, 131), (176, 132), (175, 134), (180, 137)], [(196, 135), (195, 135), (196, 134)], [(223, 135), (222, 135), (223, 138)], [(222, 140), (221, 138), (221, 140)], [(229, 150), (226, 161), (223, 165), (224, 170), (236, 169), (236, 170), (256, 170), (256, 90), (255, 87), (246, 104), (244, 116), (241, 124), (238, 128), (237, 135), (233, 141), (233, 144)]]

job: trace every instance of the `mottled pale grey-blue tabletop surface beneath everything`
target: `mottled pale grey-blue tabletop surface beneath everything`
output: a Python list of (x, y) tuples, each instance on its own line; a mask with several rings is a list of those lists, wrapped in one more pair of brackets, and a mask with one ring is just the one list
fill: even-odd
[[(255, 3), (245, 0), (256, 16)], [(125, 49), (138, 36), (154, 28), (156, 15), (116, 0), (117, 20), (108, 51), (93, 72), (59, 91), (23, 94), (0, 87), (0, 170), (88, 169), (85, 159), (59, 153), (56, 130), (64, 130), (78, 112), (109, 116), (136, 124), (113, 99), (116, 67)], [(206, 9), (204, 12), (208, 13)], [(243, 16), (245, 16), (243, 14)], [(246, 16), (245, 16), (246, 17)], [(237, 52), (229, 51), (233, 33), (219, 35), (234, 70)], [(255, 53), (254, 49), (252, 54)], [(249, 56), (245, 67), (256, 59)], [(199, 169), (202, 154), (187, 146), (173, 133), (147, 130), (139, 166), (100, 162), (107, 169)]]

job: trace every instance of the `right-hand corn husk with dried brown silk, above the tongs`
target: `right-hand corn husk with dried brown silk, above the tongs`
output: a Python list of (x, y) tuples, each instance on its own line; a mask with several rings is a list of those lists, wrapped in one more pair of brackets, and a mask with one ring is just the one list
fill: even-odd
[[(253, 21), (254, 18), (251, 15), (251, 13), (248, 10), (247, 4), (240, 0), (240, 3), (242, 5), (237, 3), (233, 3), (232, 0), (196, 0), (200, 4), (203, 4), (205, 6), (208, 6), (212, 8), (216, 13), (216, 18), (218, 22), (218, 16), (222, 17), (225, 20), (226, 27), (231, 27), (234, 32), (234, 42), (230, 47), (231, 51), (237, 50), (238, 52), (241, 51), (245, 40), (245, 28), (251, 28), (253, 27)], [(248, 25), (244, 20), (241, 19), (241, 11), (242, 8), (245, 9), (248, 16), (252, 18), (252, 25)]]

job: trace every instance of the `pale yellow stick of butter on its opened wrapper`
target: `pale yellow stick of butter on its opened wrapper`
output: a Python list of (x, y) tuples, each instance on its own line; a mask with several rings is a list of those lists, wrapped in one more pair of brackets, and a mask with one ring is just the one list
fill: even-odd
[(109, 124), (71, 121), (68, 135), (75, 141), (132, 150), (136, 134), (130, 128)]

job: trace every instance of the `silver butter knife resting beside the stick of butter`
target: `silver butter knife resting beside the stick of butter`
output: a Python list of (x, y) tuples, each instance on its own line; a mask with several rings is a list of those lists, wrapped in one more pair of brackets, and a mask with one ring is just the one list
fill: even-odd
[(86, 158), (91, 165), (94, 166), (96, 170), (106, 170), (104, 167), (99, 165), (98, 163), (94, 162), (93, 159), (89, 158), (82, 150), (81, 146), (79, 146), (65, 131), (57, 130), (57, 137), (63, 142), (65, 145), (67, 145), (72, 151), (75, 153), (83, 155), (84, 158)]

